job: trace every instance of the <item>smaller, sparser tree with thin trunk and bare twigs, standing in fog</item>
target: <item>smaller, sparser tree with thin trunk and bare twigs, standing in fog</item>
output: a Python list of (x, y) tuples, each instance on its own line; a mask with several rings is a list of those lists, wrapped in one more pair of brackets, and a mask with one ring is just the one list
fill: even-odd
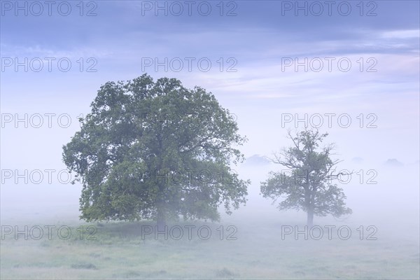
[(282, 172), (270, 172), (269, 179), (261, 183), (263, 197), (275, 203), (279, 197), (286, 200), (279, 202), (278, 208), (303, 210), (307, 213), (307, 225), (314, 223), (314, 215), (339, 217), (351, 214), (345, 206), (342, 188), (332, 185), (332, 179), (341, 174), (332, 174), (338, 160), (330, 159), (334, 144), (317, 151), (319, 144), (328, 133), (319, 134), (318, 130), (304, 130), (293, 137), (288, 131), (288, 138), (293, 146), (284, 148), (280, 154), (274, 154), (274, 163), (286, 167)]

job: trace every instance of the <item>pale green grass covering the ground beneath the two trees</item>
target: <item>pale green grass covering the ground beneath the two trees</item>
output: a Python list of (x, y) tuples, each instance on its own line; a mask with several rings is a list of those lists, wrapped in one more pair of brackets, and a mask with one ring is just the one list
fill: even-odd
[[(96, 227), (96, 240), (85, 233), (80, 239), (80, 225)], [(193, 230), (191, 240), (156, 240), (142, 238), (143, 225), (151, 223), (80, 222), (71, 225), (67, 240), (7, 235), (1, 240), (1, 279), (419, 279), (416, 239), (378, 234), (370, 241), (353, 233), (348, 240), (282, 240), (278, 223), (187, 221), (169, 227), (207, 225), (211, 237), (202, 240)], [(216, 230), (221, 225), (223, 240)], [(226, 240), (228, 225), (237, 227), (237, 240)]]

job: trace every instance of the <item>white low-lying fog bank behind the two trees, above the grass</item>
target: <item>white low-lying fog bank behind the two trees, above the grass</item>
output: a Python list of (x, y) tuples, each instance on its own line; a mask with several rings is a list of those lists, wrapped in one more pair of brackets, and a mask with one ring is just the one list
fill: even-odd
[[(280, 171), (283, 167), (272, 163), (246, 162), (236, 170), (242, 179), (251, 179), (248, 187), (248, 202), (225, 215), (222, 223), (235, 223), (241, 227), (269, 224), (304, 225), (306, 216), (302, 211), (279, 211), (260, 195), (260, 182), (269, 171)], [(345, 160), (337, 170), (348, 169), (354, 173), (349, 183), (335, 181), (347, 196), (346, 205), (353, 210), (351, 216), (333, 218), (315, 217), (314, 225), (374, 225), (378, 235), (419, 240), (419, 164), (398, 165), (386, 160), (368, 162), (361, 159)], [(362, 172), (360, 172), (362, 170)], [(369, 172), (370, 171), (370, 172)], [(363, 173), (363, 177), (361, 176)], [(65, 175), (63, 175), (65, 178)], [(22, 181), (22, 180), (20, 180)], [(1, 223), (76, 223), (78, 221), (78, 199), (80, 185), (33, 184), (27, 185), (5, 181), (1, 186)], [(9, 183), (7, 183), (9, 182)], [(22, 181), (23, 182), (23, 181)]]

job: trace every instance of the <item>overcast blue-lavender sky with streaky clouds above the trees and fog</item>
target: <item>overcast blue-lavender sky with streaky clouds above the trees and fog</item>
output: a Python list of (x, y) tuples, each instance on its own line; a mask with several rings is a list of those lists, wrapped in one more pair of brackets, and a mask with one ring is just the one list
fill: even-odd
[(100, 85), (143, 73), (213, 92), (246, 156), (307, 114), (337, 158), (418, 165), (419, 1), (1, 1), (0, 31), (1, 169), (65, 169)]

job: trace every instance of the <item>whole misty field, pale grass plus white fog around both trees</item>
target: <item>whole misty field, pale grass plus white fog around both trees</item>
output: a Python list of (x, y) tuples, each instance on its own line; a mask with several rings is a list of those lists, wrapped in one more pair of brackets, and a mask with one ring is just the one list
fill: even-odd
[[(79, 221), (80, 189), (74, 186), (50, 193), (5, 187), (1, 279), (419, 279), (419, 188), (415, 179), (403, 176), (415, 174), (416, 167), (381, 170), (377, 185), (344, 186), (353, 214), (316, 217), (318, 228), (308, 230), (307, 240), (304, 233), (295, 238), (296, 226), (304, 230), (302, 211), (278, 211), (259, 195), (258, 181), (269, 169), (239, 170), (254, 182), (245, 207), (232, 216), (222, 214), (220, 223), (168, 223), (167, 240), (162, 234), (155, 238), (153, 221)], [(397, 183), (401, 195), (395, 197)], [(43, 200), (29, 200), (39, 191), (45, 193)], [(37, 226), (43, 228), (43, 236), (35, 240), (20, 233), (15, 238), (16, 225), (20, 231), (27, 225), (34, 237)], [(10, 227), (13, 232), (7, 233)]]

